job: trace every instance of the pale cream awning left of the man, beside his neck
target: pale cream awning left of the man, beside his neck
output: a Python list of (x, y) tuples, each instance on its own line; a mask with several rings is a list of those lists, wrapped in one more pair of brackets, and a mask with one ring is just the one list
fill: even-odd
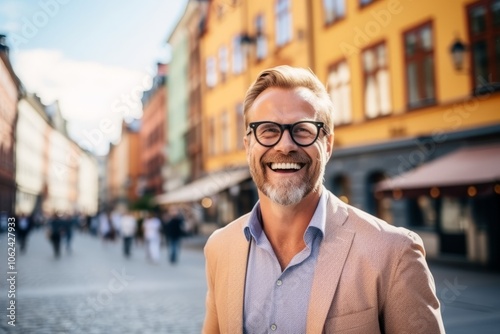
[(247, 167), (222, 170), (209, 174), (178, 189), (159, 195), (155, 198), (159, 205), (196, 202), (204, 197), (215, 195), (225, 189), (250, 178)]

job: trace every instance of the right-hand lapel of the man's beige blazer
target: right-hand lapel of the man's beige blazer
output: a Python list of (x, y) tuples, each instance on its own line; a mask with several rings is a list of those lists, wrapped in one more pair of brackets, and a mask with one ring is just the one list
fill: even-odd
[(319, 249), (311, 287), (307, 313), (307, 333), (323, 332), (328, 310), (332, 304), (340, 274), (355, 234), (354, 231), (342, 226), (347, 217), (347, 208), (339, 199), (329, 193), (325, 236)]

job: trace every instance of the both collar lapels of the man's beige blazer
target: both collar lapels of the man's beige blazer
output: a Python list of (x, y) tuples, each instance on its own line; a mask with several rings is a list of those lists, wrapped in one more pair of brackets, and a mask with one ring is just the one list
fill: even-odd
[[(324, 191), (327, 191), (324, 189)], [(328, 192), (326, 212), (326, 233), (321, 242), (314, 272), (307, 313), (307, 333), (321, 333), (328, 310), (332, 304), (344, 263), (349, 254), (355, 232), (343, 227), (347, 221), (346, 205)], [(227, 333), (243, 332), (243, 305), (245, 278), (250, 242), (243, 233), (243, 226), (249, 215), (235, 221), (234, 242), (228, 252), (227, 281)]]

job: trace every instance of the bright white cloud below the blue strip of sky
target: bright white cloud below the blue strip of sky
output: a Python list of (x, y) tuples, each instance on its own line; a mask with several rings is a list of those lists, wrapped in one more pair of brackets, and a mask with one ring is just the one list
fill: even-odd
[[(154, 75), (153, 69), (141, 72), (75, 61), (46, 49), (19, 52), (14, 66), (27, 90), (40, 96), (43, 103), (59, 101), (71, 137), (101, 153), (104, 146), (107, 150), (108, 141), (119, 139), (122, 119), (141, 117), (142, 92), (150, 88)], [(109, 122), (114, 131), (104, 131), (103, 124)], [(99, 131), (106, 140), (96, 139)]]

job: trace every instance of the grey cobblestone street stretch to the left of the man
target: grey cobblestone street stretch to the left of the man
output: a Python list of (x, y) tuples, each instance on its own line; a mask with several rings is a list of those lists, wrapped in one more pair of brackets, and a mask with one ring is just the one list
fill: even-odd
[(121, 241), (103, 245), (75, 233), (73, 251), (56, 260), (42, 231), (16, 254), (16, 321), (9, 326), (6, 234), (0, 236), (0, 333), (200, 333), (205, 276), (200, 249), (184, 248), (172, 266), (162, 248), (159, 264), (144, 247), (122, 256)]

